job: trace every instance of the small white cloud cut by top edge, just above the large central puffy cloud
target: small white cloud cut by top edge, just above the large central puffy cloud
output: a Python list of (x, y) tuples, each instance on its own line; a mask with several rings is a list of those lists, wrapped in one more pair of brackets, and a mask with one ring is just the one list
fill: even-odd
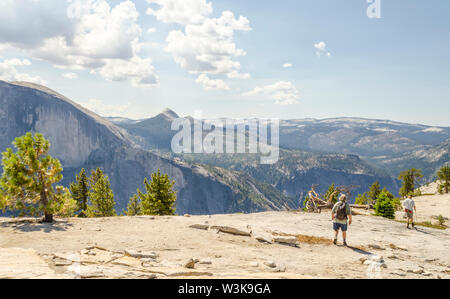
[(147, 2), (159, 6), (158, 9), (147, 9), (147, 14), (164, 23), (201, 24), (213, 12), (211, 2), (208, 3), (206, 0), (147, 0)]

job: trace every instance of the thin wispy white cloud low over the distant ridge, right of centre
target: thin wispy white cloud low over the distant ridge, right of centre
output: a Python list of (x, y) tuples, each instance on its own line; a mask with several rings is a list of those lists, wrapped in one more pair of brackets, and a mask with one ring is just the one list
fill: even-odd
[(276, 100), (277, 105), (292, 105), (297, 104), (297, 100), (300, 98), (298, 89), (288, 81), (280, 81), (272, 85), (266, 85), (264, 87), (256, 87), (252, 91), (246, 92), (243, 96), (255, 97), (259, 95), (269, 96)]

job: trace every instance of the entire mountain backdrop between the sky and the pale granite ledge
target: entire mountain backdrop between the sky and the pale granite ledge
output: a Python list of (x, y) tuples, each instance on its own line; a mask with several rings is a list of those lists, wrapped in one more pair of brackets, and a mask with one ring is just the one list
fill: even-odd
[(43, 133), (63, 184), (101, 167), (119, 212), (157, 169), (176, 181), (178, 214), (220, 214), (298, 208), (313, 184), (321, 193), (331, 183), (356, 185), (355, 196), (380, 180), (397, 193), (400, 170), (420, 167), (432, 178), (449, 161), (449, 128), (355, 118), (282, 121), (275, 165), (248, 154), (176, 155), (178, 117), (167, 109), (143, 120), (103, 118), (46, 87), (0, 81), (0, 151), (28, 131)]

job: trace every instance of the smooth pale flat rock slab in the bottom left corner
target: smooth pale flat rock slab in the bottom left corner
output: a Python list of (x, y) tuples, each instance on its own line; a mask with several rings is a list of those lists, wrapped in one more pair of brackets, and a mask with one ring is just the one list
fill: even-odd
[(70, 278), (56, 274), (34, 249), (0, 248), (0, 279)]

